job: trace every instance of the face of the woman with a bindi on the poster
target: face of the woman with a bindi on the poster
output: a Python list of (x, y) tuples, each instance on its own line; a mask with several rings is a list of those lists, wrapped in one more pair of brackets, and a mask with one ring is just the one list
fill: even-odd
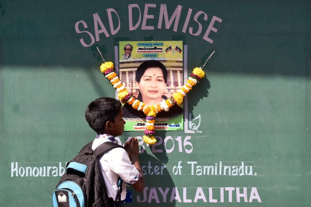
[(162, 95), (165, 90), (165, 80), (163, 72), (159, 67), (152, 67), (145, 70), (140, 82), (136, 82), (144, 103), (149, 101), (157, 101), (157, 104), (162, 100)]

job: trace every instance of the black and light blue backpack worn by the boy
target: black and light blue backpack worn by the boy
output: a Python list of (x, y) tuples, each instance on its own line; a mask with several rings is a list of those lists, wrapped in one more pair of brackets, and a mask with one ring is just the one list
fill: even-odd
[(109, 197), (98, 161), (105, 152), (122, 147), (104, 142), (94, 151), (92, 143), (66, 164), (66, 172), (52, 193), (53, 207), (109, 207)]

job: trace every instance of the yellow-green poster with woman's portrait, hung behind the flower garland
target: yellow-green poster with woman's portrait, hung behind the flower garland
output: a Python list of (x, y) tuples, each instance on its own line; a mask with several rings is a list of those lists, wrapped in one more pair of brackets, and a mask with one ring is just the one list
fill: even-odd
[[(158, 105), (183, 86), (182, 41), (120, 41), (119, 78), (148, 106)], [(124, 104), (124, 131), (145, 130), (146, 115)], [(156, 115), (156, 130), (183, 130), (183, 104)]]

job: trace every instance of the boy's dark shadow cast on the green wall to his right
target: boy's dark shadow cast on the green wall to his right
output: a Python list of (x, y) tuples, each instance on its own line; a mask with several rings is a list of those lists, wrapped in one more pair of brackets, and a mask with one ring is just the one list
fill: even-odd
[[(166, 131), (156, 131), (156, 139), (159, 145), (150, 145), (150, 151), (144, 151), (139, 155), (140, 164), (144, 173), (146, 187), (143, 192), (139, 193), (132, 186), (127, 187), (128, 191), (132, 192), (132, 203), (125, 203), (126, 207), (140, 206), (175, 206), (176, 200), (171, 199), (175, 196), (175, 184), (169, 173), (166, 165), (169, 163), (169, 158), (166, 154), (165, 144), (160, 141), (159, 137), (166, 137)], [(152, 149), (152, 146), (154, 148)], [(156, 150), (156, 152), (155, 152)], [(164, 196), (163, 196), (164, 195)]]

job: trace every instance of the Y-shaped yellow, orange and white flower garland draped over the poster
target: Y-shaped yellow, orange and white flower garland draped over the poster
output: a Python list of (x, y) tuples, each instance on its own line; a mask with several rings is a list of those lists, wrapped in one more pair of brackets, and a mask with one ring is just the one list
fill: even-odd
[(105, 75), (105, 77), (110, 81), (113, 87), (118, 92), (118, 98), (122, 103), (128, 103), (135, 110), (143, 111), (146, 115), (146, 129), (144, 131), (143, 140), (147, 144), (153, 145), (156, 143), (156, 138), (154, 137), (156, 114), (162, 110), (168, 111), (170, 107), (175, 104), (180, 105), (183, 103), (183, 97), (192, 89), (194, 85), (201, 81), (205, 76), (205, 72), (200, 68), (196, 67), (190, 74), (187, 83), (182, 86), (178, 92), (174, 92), (172, 97), (162, 100), (158, 105), (148, 106), (145, 103), (137, 100), (132, 92), (129, 92), (124, 86), (122, 81), (119, 79), (117, 74), (114, 72), (114, 64), (110, 61), (103, 63), (100, 66), (100, 71)]

